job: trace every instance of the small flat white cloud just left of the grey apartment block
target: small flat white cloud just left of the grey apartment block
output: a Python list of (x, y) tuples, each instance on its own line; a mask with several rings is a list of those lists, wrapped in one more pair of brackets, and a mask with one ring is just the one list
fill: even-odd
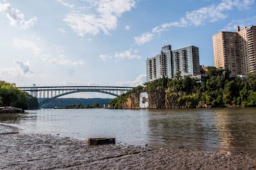
[(113, 55), (99, 55), (102, 60), (120, 60), (120, 59), (140, 59), (140, 55), (137, 55), (136, 50), (127, 50), (125, 52), (115, 52)]

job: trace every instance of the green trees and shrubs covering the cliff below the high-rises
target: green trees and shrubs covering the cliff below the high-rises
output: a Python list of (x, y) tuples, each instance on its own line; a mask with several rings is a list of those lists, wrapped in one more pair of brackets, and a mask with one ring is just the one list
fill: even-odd
[[(149, 96), (150, 94), (155, 96), (154, 99), (151, 99), (151, 103), (158, 100), (158, 104), (150, 108), (256, 106), (256, 73), (247, 74), (245, 81), (241, 78), (229, 78), (229, 74), (230, 72), (223, 68), (209, 67), (205, 73), (206, 81), (196, 83), (189, 76), (181, 78), (180, 73), (177, 73), (172, 80), (163, 77), (145, 83), (145, 87), (138, 86), (113, 99), (109, 105), (112, 108), (140, 108), (138, 104), (127, 107), (127, 101), (131, 101), (130, 103), (133, 102), (133, 104), (134, 101), (138, 103), (140, 92), (146, 91)], [(148, 100), (150, 103), (150, 99)]]

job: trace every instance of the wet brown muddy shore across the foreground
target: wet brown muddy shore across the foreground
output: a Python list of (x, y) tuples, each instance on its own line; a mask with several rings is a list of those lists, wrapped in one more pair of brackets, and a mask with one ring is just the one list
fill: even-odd
[(253, 153), (102, 145), (0, 124), (0, 169), (256, 169)]

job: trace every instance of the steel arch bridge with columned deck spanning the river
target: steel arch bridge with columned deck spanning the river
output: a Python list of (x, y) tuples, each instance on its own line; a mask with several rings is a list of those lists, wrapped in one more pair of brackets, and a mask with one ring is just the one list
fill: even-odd
[(56, 99), (67, 94), (78, 92), (99, 92), (120, 97), (122, 93), (132, 90), (134, 87), (119, 87), (119, 86), (49, 86), (49, 87), (18, 87), (20, 90), (29, 92), (31, 96), (37, 97), (39, 107), (42, 104)]

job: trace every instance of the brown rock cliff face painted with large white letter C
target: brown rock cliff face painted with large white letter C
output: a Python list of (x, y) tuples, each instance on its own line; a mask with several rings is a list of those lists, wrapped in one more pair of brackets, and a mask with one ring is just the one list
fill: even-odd
[[(179, 94), (173, 95), (164, 89), (143, 89), (132, 94), (124, 103), (122, 109), (164, 109), (164, 108), (196, 108), (196, 104), (179, 99)], [(179, 101), (179, 102), (178, 102)]]

